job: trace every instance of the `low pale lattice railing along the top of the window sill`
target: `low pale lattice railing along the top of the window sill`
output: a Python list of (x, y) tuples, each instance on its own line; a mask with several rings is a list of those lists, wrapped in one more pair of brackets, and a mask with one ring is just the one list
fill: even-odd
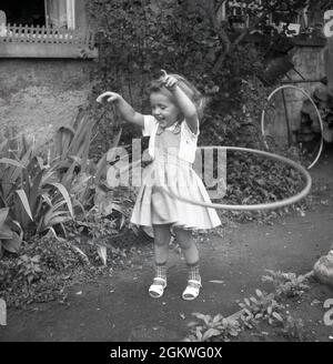
[(22, 24), (0, 24), (0, 43), (75, 44), (94, 48), (94, 32), (90, 29), (62, 29)]

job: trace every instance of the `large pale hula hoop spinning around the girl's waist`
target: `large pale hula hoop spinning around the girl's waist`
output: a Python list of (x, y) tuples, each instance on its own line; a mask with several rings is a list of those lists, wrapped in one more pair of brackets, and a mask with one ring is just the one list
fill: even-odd
[(239, 146), (200, 146), (199, 149), (205, 150), (205, 149), (220, 149), (220, 150), (232, 150), (232, 151), (241, 151), (241, 152), (250, 152), (250, 153), (254, 153), (254, 154), (259, 154), (259, 155), (264, 155), (268, 156), (270, 159), (280, 161), (280, 162), (284, 162), (287, 165), (296, 169), (299, 172), (301, 172), (301, 174), (305, 178), (305, 186), (304, 189), (299, 192), (297, 194), (281, 200), (281, 201), (275, 201), (275, 202), (268, 202), (268, 203), (259, 203), (259, 204), (253, 204), (253, 205), (229, 205), (229, 204), (223, 204), (223, 203), (208, 203), (208, 202), (199, 202), (199, 201), (193, 201), (190, 199), (185, 199), (183, 196), (178, 195), (176, 193), (174, 193), (173, 191), (171, 191), (170, 185), (169, 189), (165, 189), (165, 192), (172, 196), (173, 199), (178, 199), (180, 201), (183, 202), (188, 202), (198, 206), (203, 206), (203, 208), (212, 208), (212, 209), (222, 209), (222, 210), (238, 210), (238, 211), (253, 211), (253, 210), (270, 210), (270, 209), (279, 209), (279, 208), (284, 208), (286, 205), (293, 204), (297, 201), (300, 201), (301, 199), (303, 199), (311, 189), (311, 184), (312, 184), (312, 180), (311, 180), (311, 175), (310, 173), (299, 163), (282, 156), (282, 155), (278, 155), (278, 154), (273, 154), (273, 153), (269, 153), (265, 151), (260, 151), (256, 149), (250, 149), (250, 148), (239, 148)]

